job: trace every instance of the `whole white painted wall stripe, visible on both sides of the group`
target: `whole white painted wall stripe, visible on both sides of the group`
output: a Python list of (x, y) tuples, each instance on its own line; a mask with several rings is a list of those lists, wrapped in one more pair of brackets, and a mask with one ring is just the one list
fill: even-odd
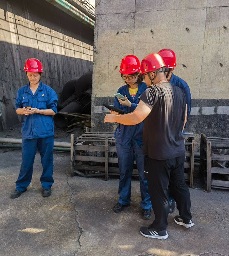
[[(214, 109), (216, 112), (214, 112)], [(229, 115), (229, 106), (219, 106), (219, 107), (202, 107), (201, 113), (199, 113), (200, 108), (199, 107), (193, 107), (191, 108), (190, 116), (196, 116), (196, 115), (215, 115), (215, 114), (223, 114), (223, 115)], [(107, 109), (104, 106), (94, 106), (93, 113), (109, 113), (110, 110)]]

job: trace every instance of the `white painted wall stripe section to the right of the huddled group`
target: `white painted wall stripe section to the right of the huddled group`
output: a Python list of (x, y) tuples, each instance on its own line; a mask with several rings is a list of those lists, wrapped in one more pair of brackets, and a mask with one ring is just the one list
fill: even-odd
[[(200, 113), (199, 113), (200, 110)], [(214, 111), (215, 110), (215, 111)], [(219, 107), (193, 107), (191, 108), (190, 116), (195, 116), (198, 114), (202, 115), (215, 115), (215, 114), (223, 114), (229, 115), (229, 106), (219, 106)]]

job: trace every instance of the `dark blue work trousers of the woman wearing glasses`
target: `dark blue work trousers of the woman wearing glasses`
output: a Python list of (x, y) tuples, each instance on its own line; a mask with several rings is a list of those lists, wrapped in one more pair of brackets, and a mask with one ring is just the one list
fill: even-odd
[(151, 201), (148, 193), (148, 185), (144, 175), (144, 156), (142, 155), (142, 146), (138, 146), (135, 141), (132, 141), (132, 145), (129, 148), (117, 147), (118, 165), (120, 171), (119, 180), (119, 200), (118, 202), (123, 205), (130, 203), (131, 196), (131, 178), (134, 168), (134, 161), (136, 161), (140, 191), (141, 191), (141, 207), (142, 209), (151, 209)]

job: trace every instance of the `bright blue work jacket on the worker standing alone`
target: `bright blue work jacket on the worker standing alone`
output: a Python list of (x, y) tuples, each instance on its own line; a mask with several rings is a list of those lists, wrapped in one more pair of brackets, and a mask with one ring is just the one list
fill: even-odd
[[(36, 107), (38, 109), (51, 108), (57, 113), (57, 94), (56, 92), (40, 81), (36, 92), (32, 93), (29, 88), (30, 83), (18, 89), (15, 102), (15, 110), (25, 106)], [(23, 115), (22, 137), (23, 139), (46, 138), (54, 135), (54, 122), (52, 115), (32, 114)]]

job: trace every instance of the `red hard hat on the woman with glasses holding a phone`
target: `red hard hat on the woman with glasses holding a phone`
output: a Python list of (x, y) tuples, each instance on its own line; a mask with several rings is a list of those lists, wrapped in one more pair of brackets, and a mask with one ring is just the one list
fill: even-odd
[(127, 55), (122, 59), (119, 72), (122, 74), (133, 74), (140, 71), (140, 61), (134, 55)]

